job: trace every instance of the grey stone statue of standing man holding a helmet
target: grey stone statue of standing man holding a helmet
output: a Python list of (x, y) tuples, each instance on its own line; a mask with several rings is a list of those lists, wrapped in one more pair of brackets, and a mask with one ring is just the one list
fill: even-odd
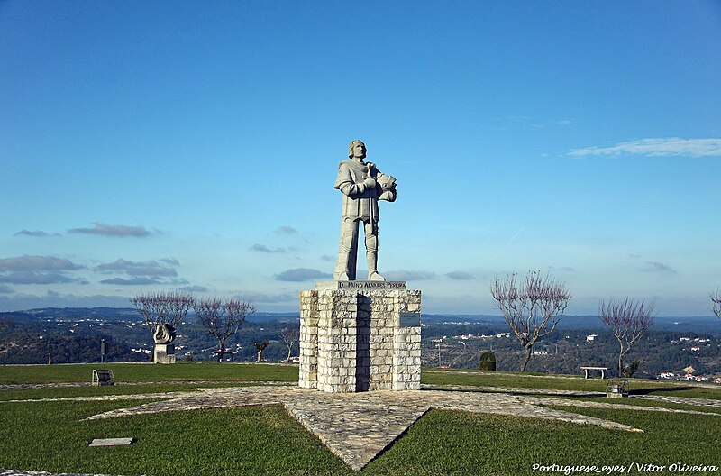
[(348, 157), (338, 165), (335, 188), (342, 192), (341, 246), (333, 279), (355, 280), (358, 257), (358, 228), (363, 224), (368, 260), (368, 279), (385, 281), (378, 272), (378, 201), (396, 200), (396, 178), (384, 175), (366, 158), (366, 145), (353, 141)]

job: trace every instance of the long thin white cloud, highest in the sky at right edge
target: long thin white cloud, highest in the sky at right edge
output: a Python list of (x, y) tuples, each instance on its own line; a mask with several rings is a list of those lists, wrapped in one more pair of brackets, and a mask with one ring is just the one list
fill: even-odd
[(687, 157), (721, 156), (721, 139), (640, 139), (638, 141), (621, 142), (610, 147), (586, 147), (574, 149), (568, 155), (584, 157), (588, 155), (621, 155), (635, 154), (651, 157), (681, 155)]

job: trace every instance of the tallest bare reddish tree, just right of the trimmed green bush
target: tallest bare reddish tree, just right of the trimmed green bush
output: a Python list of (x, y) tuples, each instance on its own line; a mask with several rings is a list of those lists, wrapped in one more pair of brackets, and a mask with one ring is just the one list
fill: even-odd
[(521, 283), (516, 282), (516, 274), (494, 279), (490, 294), (525, 349), (525, 359), (521, 362), (521, 371), (525, 371), (536, 341), (551, 334), (561, 320), (570, 292), (564, 283), (544, 276), (541, 271), (528, 271)]

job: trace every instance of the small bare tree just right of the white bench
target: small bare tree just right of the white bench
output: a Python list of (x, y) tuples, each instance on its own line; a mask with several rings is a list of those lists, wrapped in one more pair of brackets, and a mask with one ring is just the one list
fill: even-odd
[(624, 367), (624, 356), (631, 350), (648, 329), (653, 325), (653, 303), (646, 305), (644, 300), (634, 301), (625, 298), (616, 301), (611, 298), (601, 301), (599, 316), (611, 334), (618, 341), (618, 376), (624, 377), (628, 372)]

